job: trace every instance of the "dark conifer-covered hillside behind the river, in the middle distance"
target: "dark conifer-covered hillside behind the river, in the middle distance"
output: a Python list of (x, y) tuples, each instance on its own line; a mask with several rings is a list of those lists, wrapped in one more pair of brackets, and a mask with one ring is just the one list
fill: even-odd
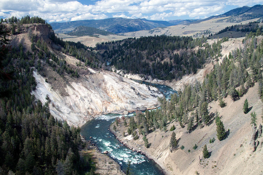
[(171, 80), (195, 74), (205, 62), (220, 56), (220, 44), (226, 40), (223, 38), (211, 46), (203, 44), (204, 37), (161, 35), (101, 43), (96, 45), (96, 50), (105, 61), (124, 73)]

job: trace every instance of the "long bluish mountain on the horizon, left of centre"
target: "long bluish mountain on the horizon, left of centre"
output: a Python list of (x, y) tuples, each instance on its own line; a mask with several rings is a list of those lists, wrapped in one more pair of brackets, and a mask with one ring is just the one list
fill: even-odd
[(77, 26), (88, 26), (97, 29), (103, 29), (112, 33), (124, 33), (130, 31), (150, 30), (156, 27), (171, 26), (167, 21), (154, 21), (146, 19), (127, 19), (122, 17), (108, 18), (103, 20), (81, 20), (70, 22), (53, 22), (51, 26), (57, 33), (67, 33)]

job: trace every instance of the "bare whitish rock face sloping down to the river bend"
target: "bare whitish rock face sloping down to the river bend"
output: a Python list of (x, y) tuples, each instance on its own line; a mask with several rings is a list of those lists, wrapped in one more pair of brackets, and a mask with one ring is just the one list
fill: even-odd
[[(157, 88), (136, 83), (109, 71), (97, 71), (89, 68), (92, 74), (81, 75), (77, 82), (69, 82), (62, 96), (58, 90), (53, 90), (45, 78), (34, 72), (37, 88), (32, 92), (36, 99), (45, 103), (46, 95), (51, 99), (49, 105), (51, 114), (70, 125), (83, 125), (87, 120), (101, 113), (116, 111), (133, 111), (143, 106), (157, 106), (155, 96), (162, 97)], [(133, 89), (131, 88), (133, 87)], [(139, 93), (138, 93), (139, 92)], [(138, 95), (139, 94), (139, 95)]]

